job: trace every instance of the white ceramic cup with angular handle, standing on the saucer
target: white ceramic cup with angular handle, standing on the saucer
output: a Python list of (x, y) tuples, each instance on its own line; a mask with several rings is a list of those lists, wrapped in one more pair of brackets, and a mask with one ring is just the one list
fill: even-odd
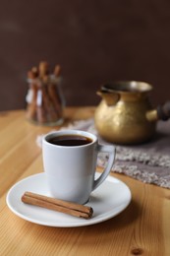
[[(52, 138), (78, 135), (91, 142), (83, 146), (59, 146), (49, 142)], [(109, 154), (106, 168), (95, 179), (97, 155)], [(49, 190), (53, 197), (85, 204), (91, 191), (108, 176), (115, 159), (115, 147), (99, 145), (97, 137), (85, 131), (62, 130), (49, 133), (42, 140), (42, 159)]]

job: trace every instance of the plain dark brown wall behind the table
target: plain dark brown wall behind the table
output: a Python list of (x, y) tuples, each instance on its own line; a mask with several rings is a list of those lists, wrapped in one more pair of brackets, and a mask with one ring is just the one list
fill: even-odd
[(60, 64), (67, 105), (96, 105), (105, 82), (154, 87), (170, 99), (170, 1), (0, 0), (0, 110), (26, 106), (27, 73)]

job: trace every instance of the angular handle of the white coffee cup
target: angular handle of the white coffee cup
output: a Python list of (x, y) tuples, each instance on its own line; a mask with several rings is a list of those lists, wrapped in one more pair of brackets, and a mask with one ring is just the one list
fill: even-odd
[(106, 177), (109, 175), (112, 165), (114, 163), (115, 160), (115, 155), (116, 155), (116, 149), (114, 146), (111, 145), (97, 145), (97, 153), (100, 152), (105, 152), (105, 153), (109, 153), (109, 159), (107, 162), (107, 166), (105, 167), (105, 169), (103, 170), (103, 172), (101, 173), (101, 175), (94, 180), (93, 182), (93, 187), (92, 187), (92, 191), (97, 188), (105, 179)]

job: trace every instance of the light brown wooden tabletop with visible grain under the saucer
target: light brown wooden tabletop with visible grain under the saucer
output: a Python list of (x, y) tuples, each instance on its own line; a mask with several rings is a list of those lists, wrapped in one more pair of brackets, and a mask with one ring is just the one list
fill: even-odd
[[(68, 108), (64, 125), (86, 119), (93, 111)], [(132, 202), (104, 223), (50, 227), (29, 223), (9, 210), (10, 187), (42, 171), (35, 140), (51, 129), (28, 123), (23, 110), (0, 113), (0, 255), (170, 255), (170, 190), (122, 174), (112, 175), (130, 187)]]

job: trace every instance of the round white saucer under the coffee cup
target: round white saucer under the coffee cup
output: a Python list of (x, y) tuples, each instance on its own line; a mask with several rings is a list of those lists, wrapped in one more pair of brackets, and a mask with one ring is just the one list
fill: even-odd
[[(96, 173), (96, 176), (99, 174)], [(28, 222), (62, 227), (102, 223), (121, 213), (130, 204), (132, 198), (131, 191), (125, 183), (117, 178), (108, 176), (91, 193), (86, 205), (92, 207), (93, 216), (91, 219), (85, 220), (24, 204), (21, 201), (21, 197), (26, 191), (51, 196), (44, 172), (34, 174), (16, 183), (7, 194), (7, 205), (14, 214)]]

